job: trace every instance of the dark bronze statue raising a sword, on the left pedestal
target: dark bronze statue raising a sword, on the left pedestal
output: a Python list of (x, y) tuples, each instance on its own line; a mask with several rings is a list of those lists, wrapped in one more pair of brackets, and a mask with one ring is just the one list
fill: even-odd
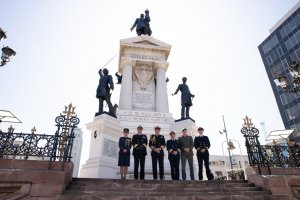
[(96, 97), (99, 99), (99, 110), (95, 114), (95, 116), (101, 115), (104, 113), (103, 111), (103, 101), (105, 100), (109, 112), (108, 114), (115, 117), (115, 109), (112, 106), (112, 103), (110, 101), (111, 93), (110, 90), (114, 90), (114, 83), (112, 76), (108, 74), (108, 70), (104, 68), (103, 70), (99, 70), (100, 80), (99, 85), (97, 88), (97, 94)]

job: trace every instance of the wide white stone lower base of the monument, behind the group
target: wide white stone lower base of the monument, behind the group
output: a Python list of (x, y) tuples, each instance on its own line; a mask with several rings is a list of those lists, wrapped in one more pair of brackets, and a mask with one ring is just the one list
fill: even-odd
[[(154, 134), (154, 127), (161, 127), (161, 135), (165, 136), (166, 141), (170, 139), (169, 133), (173, 130), (177, 133), (177, 138), (181, 136), (181, 130), (187, 128), (191, 136), (197, 134), (197, 126), (191, 119), (180, 120), (174, 123), (171, 114), (146, 111), (126, 111), (118, 110), (118, 118), (102, 114), (94, 118), (93, 122), (87, 124), (87, 129), (91, 131), (91, 146), (89, 159), (82, 166), (80, 177), (85, 178), (109, 178), (119, 179), (118, 167), (118, 141), (123, 136), (123, 128), (129, 128), (129, 137), (136, 134), (136, 128), (139, 125), (144, 127), (143, 133), (147, 135), (148, 141), (150, 135)], [(131, 149), (132, 153), (132, 149)], [(150, 148), (147, 148), (145, 162), (146, 179), (153, 179), (152, 160)], [(181, 166), (181, 165), (180, 165)], [(130, 157), (130, 167), (128, 177), (133, 178), (134, 158)], [(164, 158), (165, 179), (171, 179), (170, 164), (168, 152), (165, 150)], [(180, 169), (181, 170), (181, 169)], [(186, 165), (187, 179), (189, 180), (189, 166)], [(181, 171), (180, 171), (181, 174)], [(197, 158), (194, 156), (194, 174), (198, 174)]]

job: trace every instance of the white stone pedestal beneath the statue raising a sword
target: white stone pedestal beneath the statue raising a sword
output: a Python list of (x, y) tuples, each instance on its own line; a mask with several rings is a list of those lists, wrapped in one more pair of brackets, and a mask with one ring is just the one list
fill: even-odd
[(82, 166), (80, 177), (118, 178), (118, 140), (122, 128), (118, 119), (99, 115), (87, 124), (91, 131), (89, 159)]

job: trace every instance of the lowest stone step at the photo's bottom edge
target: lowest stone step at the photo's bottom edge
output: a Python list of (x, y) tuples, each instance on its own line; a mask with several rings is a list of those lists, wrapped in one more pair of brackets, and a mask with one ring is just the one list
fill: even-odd
[(201, 196), (95, 196), (95, 195), (61, 195), (56, 200), (273, 200), (269, 194), (263, 195), (201, 195)]

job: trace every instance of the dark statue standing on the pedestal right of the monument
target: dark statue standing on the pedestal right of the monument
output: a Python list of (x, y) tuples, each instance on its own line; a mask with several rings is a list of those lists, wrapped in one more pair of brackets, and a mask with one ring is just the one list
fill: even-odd
[(191, 94), (189, 86), (186, 84), (187, 78), (182, 78), (182, 84), (179, 84), (176, 91), (172, 95), (176, 95), (181, 91), (181, 119), (190, 118), (190, 107), (193, 105), (192, 98), (195, 95)]

